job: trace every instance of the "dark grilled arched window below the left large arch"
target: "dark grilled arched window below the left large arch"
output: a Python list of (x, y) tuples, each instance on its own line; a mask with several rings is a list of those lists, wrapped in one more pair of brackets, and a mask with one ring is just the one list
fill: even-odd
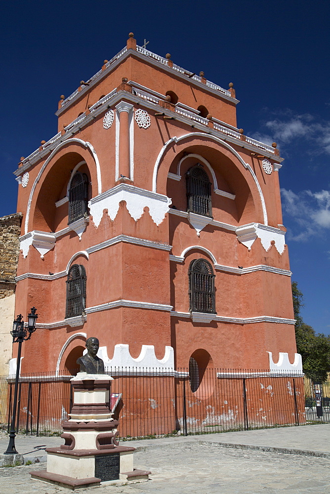
[(81, 264), (71, 266), (67, 279), (65, 317), (81, 316), (86, 307), (86, 271)]

